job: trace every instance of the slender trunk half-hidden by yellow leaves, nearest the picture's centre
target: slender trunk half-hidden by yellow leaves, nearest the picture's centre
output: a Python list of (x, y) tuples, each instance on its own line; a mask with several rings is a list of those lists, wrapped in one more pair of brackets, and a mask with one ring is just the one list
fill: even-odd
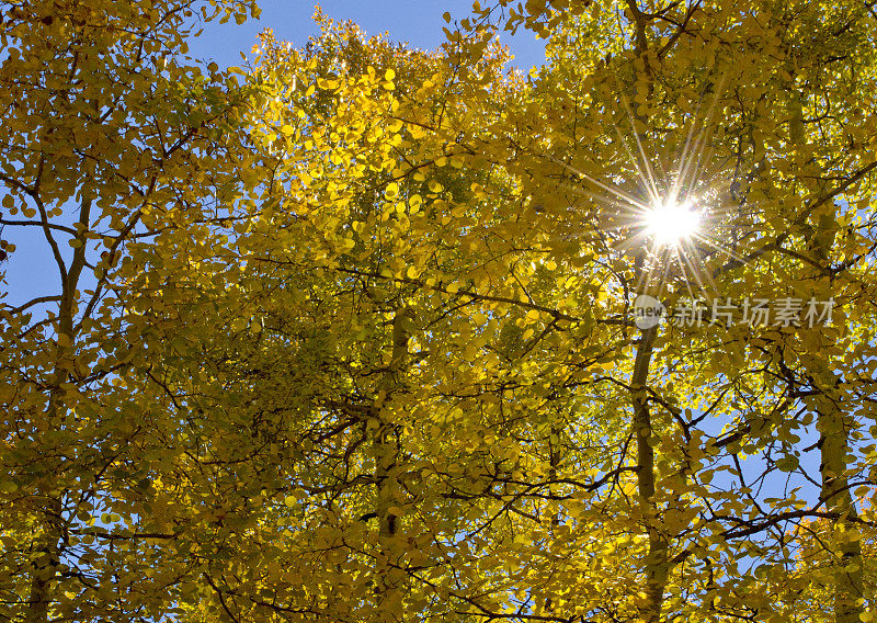
[(377, 500), (375, 514), (378, 520), (379, 576), (375, 588), (378, 621), (399, 623), (402, 612), (405, 571), (401, 568), (405, 550), (399, 542), (399, 442), (394, 414), (386, 406), (400, 387), (400, 375), (408, 358), (408, 339), (411, 313), (400, 309), (392, 320), (392, 352), (390, 363), (375, 400), (374, 415), (377, 429), (373, 438), (375, 455), (375, 482)]

